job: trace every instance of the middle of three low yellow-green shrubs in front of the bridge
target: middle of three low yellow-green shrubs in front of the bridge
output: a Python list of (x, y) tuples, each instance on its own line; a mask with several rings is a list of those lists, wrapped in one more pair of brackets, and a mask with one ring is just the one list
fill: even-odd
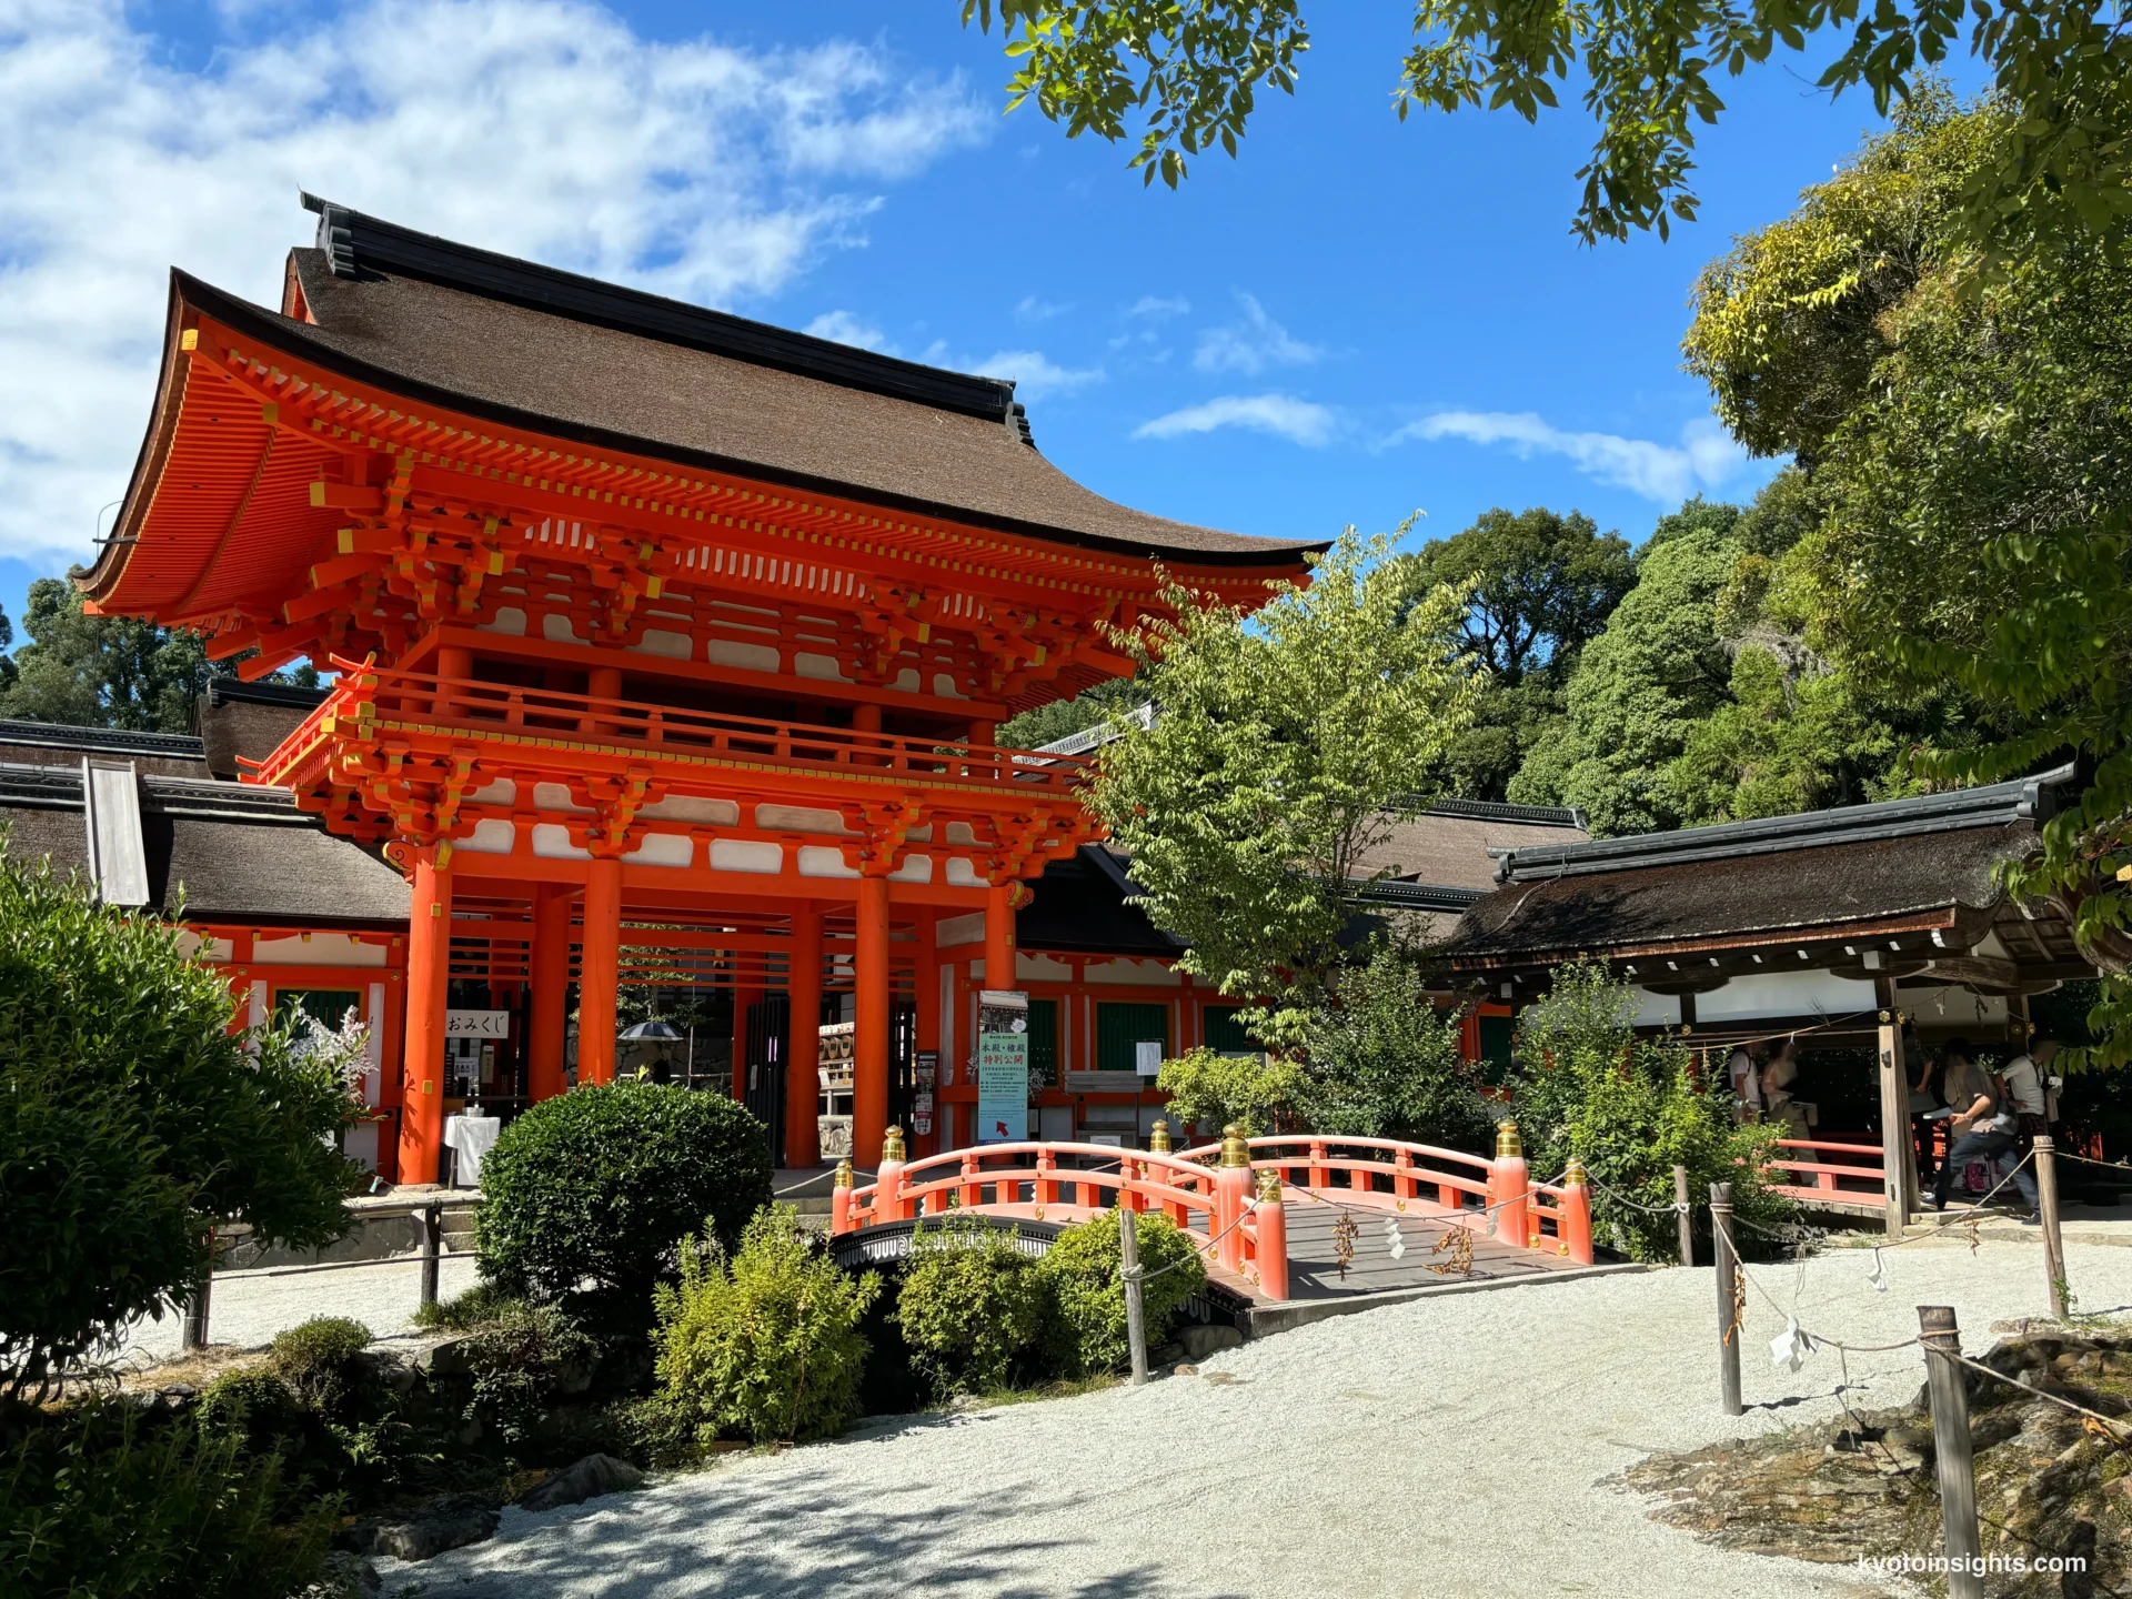
[(1017, 1239), (957, 1215), (912, 1234), (895, 1322), (936, 1399), (991, 1392), (1028, 1375), (1049, 1298)]

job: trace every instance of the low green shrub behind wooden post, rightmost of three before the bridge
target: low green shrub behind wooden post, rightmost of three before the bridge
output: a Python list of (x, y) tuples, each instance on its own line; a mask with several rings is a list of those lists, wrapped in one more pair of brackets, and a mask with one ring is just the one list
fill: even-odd
[[(1117, 1371), (1130, 1360), (1126, 1341), (1126, 1281), (1119, 1275), (1117, 1251), (1119, 1211), (1070, 1226), (1051, 1241), (1038, 1266), (1038, 1277), (1051, 1296), (1051, 1320), (1045, 1345), (1051, 1360), (1068, 1377), (1094, 1377)], [(1192, 1237), (1166, 1215), (1134, 1213), (1134, 1241), (1141, 1245), (1141, 1269), (1147, 1281), (1141, 1301), (1147, 1315), (1147, 1345), (1170, 1335), (1177, 1311), (1207, 1286)]]

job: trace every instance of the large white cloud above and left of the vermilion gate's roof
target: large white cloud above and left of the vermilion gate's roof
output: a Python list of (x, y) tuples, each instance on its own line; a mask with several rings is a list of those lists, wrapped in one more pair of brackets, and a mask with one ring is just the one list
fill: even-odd
[(0, 554), (87, 554), (141, 443), (166, 269), (277, 305), (298, 188), (733, 303), (863, 243), (878, 185), (996, 122), (872, 47), (652, 43), (591, 0), (258, 15), (286, 30), (185, 72), (119, 0), (6, 9)]

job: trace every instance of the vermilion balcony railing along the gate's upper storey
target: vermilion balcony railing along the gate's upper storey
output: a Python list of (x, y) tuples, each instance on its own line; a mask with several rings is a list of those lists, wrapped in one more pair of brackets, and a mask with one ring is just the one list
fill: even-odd
[(1006, 787), (1072, 793), (1089, 770), (1079, 755), (1034, 755), (994, 744), (868, 733), (855, 727), (733, 716), (718, 710), (439, 678), (431, 672), (350, 667), (326, 701), (258, 765), (260, 782), (288, 782), (326, 738), (441, 738), (552, 744), (586, 755), (710, 757), (731, 763), (881, 774), (925, 787)]

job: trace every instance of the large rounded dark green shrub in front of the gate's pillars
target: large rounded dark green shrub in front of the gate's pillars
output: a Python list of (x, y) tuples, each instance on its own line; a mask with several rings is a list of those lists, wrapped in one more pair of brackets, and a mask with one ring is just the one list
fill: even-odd
[(482, 1275), (524, 1298), (591, 1281), (588, 1313), (644, 1326), (674, 1241), (708, 1220), (725, 1247), (770, 1202), (770, 1134), (723, 1094), (599, 1083), (542, 1100), (482, 1162)]

